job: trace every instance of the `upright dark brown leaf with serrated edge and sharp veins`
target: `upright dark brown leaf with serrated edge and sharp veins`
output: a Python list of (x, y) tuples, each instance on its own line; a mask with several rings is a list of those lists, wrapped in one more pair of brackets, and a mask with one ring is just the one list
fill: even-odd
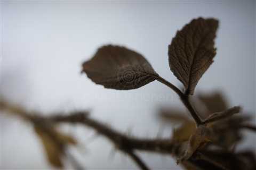
[(213, 62), (217, 28), (215, 19), (194, 19), (177, 31), (169, 45), (171, 71), (183, 83), (188, 95), (193, 95), (197, 82)]

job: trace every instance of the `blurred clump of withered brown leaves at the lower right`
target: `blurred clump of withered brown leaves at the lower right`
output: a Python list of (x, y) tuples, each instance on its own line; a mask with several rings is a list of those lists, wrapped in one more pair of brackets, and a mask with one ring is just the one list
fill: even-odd
[[(220, 92), (214, 92), (210, 95), (199, 94), (198, 98), (202, 100), (205, 106), (212, 104), (217, 106), (207, 107), (209, 111), (204, 113), (206, 115), (201, 115), (202, 117), (212, 117), (214, 114), (219, 115), (221, 113), (232, 115), (239, 111), (239, 107), (228, 109), (227, 101)], [(200, 105), (196, 106), (200, 107)], [(220, 108), (218, 106), (225, 111), (214, 113), (216, 109)], [(178, 156), (178, 162), (181, 161), (183, 166), (187, 169), (256, 168), (256, 159), (252, 150), (235, 151), (235, 147), (244, 138), (243, 130), (251, 124), (252, 118), (248, 114), (229, 116), (206, 124), (205, 127), (196, 127), (194, 121), (186, 115), (185, 112), (171, 108), (162, 109), (159, 113), (161, 120), (170, 124), (178, 124), (178, 127), (174, 129), (172, 141), (185, 146), (181, 155)], [(208, 119), (206, 118), (206, 120)], [(246, 129), (250, 130), (250, 128)], [(184, 159), (188, 159), (189, 162), (182, 162)]]

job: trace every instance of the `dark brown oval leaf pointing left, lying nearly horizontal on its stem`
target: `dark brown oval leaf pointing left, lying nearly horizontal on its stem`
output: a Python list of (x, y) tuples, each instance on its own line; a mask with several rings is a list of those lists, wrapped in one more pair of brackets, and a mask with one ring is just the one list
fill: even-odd
[(158, 77), (142, 55), (113, 45), (99, 48), (91, 60), (83, 63), (83, 72), (93, 82), (118, 90), (137, 89)]

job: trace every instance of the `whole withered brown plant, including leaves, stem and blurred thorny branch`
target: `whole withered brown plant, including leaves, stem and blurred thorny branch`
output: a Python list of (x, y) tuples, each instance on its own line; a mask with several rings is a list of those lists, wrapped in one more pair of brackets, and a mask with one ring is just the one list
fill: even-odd
[[(150, 169), (137, 156), (137, 151), (156, 152), (171, 155), (185, 169), (256, 169), (253, 150), (236, 150), (244, 138), (243, 130), (255, 132), (251, 117), (242, 114), (239, 106), (229, 107), (222, 94), (198, 95), (208, 111), (198, 113), (191, 105), (189, 96), (216, 55), (214, 39), (218, 20), (198, 18), (186, 24), (169, 45), (169, 65), (184, 85), (181, 91), (169, 81), (159, 76), (150, 63), (139, 53), (121, 46), (100, 47), (91, 60), (83, 63), (82, 72), (93, 82), (105, 88), (129, 90), (137, 89), (157, 80), (174, 90), (191, 115), (183, 111), (163, 109), (159, 114), (164, 121), (178, 124), (171, 138), (140, 139), (120, 133), (109, 126), (93, 120), (87, 112), (74, 112), (69, 115), (54, 114), (42, 116), (37, 112), (11, 105), (1, 100), (0, 109), (4, 113), (14, 113), (32, 123), (35, 132), (42, 140), (49, 162), (55, 167), (63, 167), (62, 157), (67, 156), (67, 147), (76, 145), (76, 140), (63, 134), (57, 128), (60, 123), (81, 124), (92, 128), (113, 142), (119, 151), (124, 152), (141, 169)], [(195, 105), (201, 107), (201, 105)], [(75, 164), (75, 168), (81, 166)]]

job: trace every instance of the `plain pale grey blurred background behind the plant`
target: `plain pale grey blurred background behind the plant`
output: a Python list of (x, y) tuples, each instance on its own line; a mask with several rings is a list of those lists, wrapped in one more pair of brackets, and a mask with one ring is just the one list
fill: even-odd
[[(169, 137), (172, 126), (157, 120), (158, 109), (186, 112), (169, 88), (155, 81), (135, 90), (104, 89), (79, 72), (98, 47), (119, 44), (143, 54), (158, 74), (182, 87), (169, 69), (167, 45), (198, 16), (217, 18), (220, 27), (215, 62), (195, 94), (221, 90), (230, 106), (255, 113), (254, 1), (2, 1), (1, 94), (45, 114), (90, 109), (92, 117), (138, 137), (155, 137), (164, 126), (162, 136)], [(0, 167), (50, 168), (31, 126), (0, 118)], [(111, 155), (105, 139), (91, 140), (92, 130), (66, 129), (79, 139), (73, 152), (88, 169), (137, 168), (118, 151)], [(248, 134), (245, 148), (255, 142)], [(154, 169), (180, 169), (169, 157), (142, 157)]]

